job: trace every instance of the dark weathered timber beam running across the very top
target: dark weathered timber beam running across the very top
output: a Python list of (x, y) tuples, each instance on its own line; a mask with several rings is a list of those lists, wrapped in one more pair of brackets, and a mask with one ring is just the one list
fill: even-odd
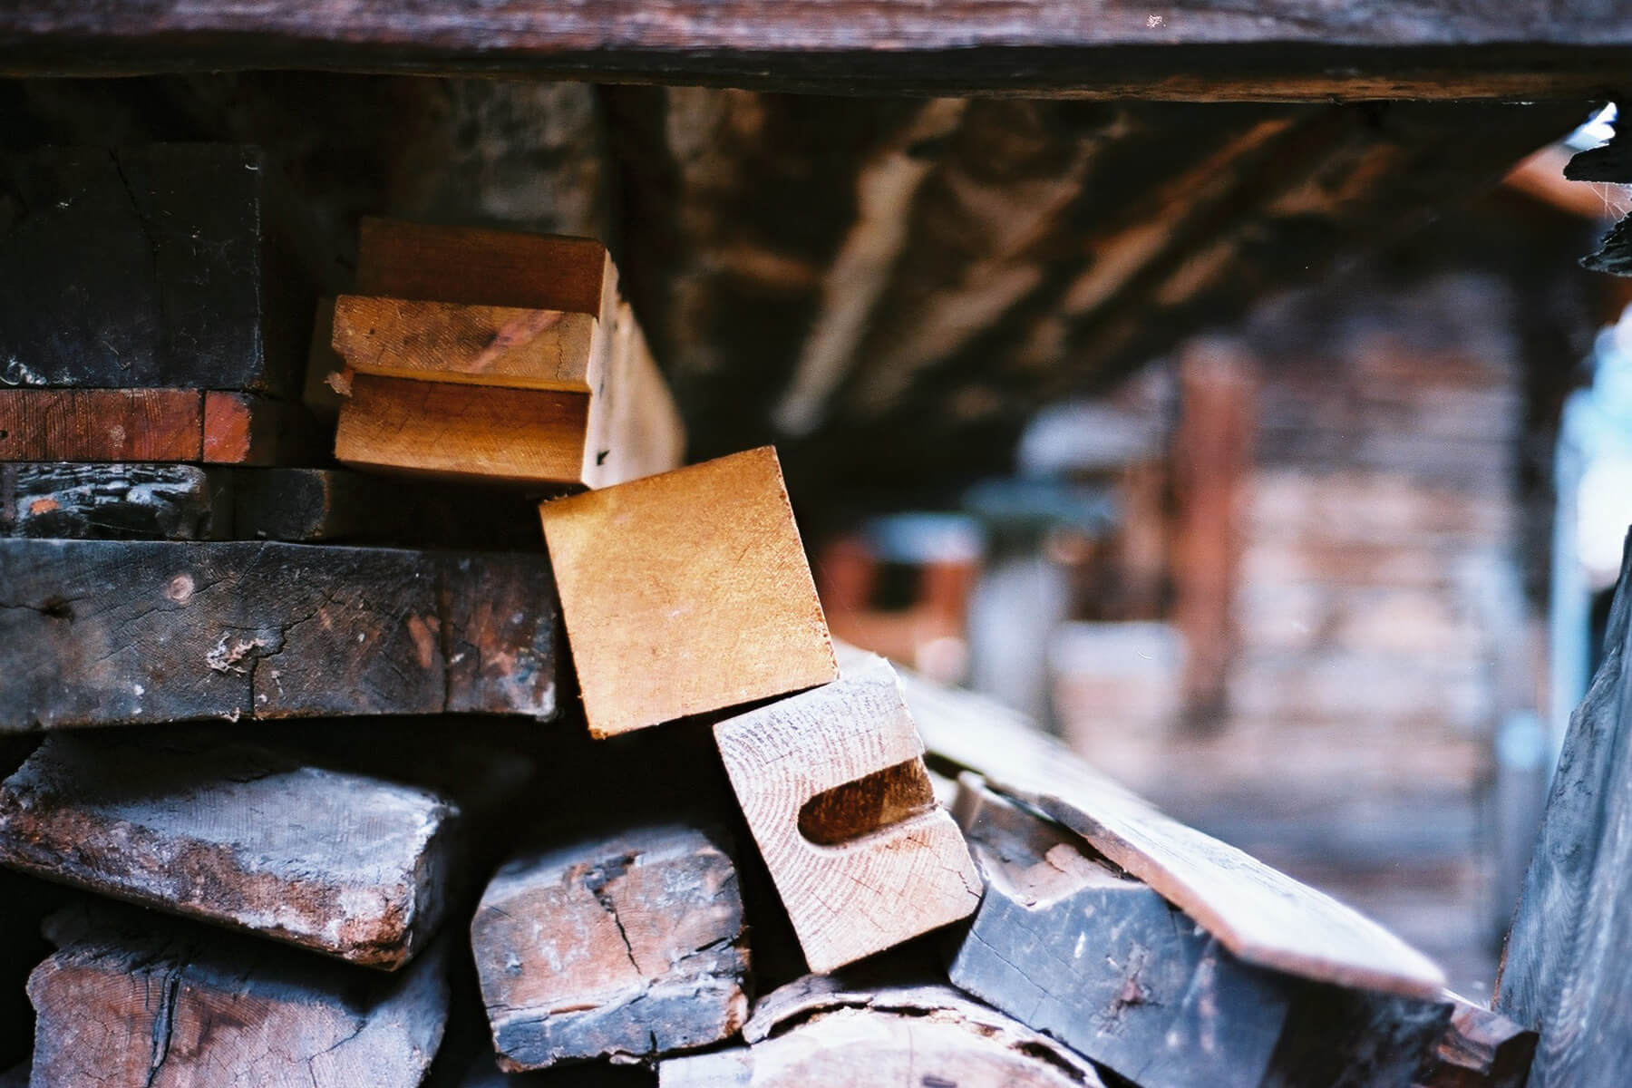
[(1616, 0), (15, 0), (0, 72), (530, 73), (844, 95), (1590, 98)]

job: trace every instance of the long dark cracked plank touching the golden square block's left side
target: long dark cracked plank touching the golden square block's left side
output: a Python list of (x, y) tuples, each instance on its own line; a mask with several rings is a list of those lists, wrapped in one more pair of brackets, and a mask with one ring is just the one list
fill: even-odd
[(555, 714), (542, 555), (0, 540), (0, 729)]

